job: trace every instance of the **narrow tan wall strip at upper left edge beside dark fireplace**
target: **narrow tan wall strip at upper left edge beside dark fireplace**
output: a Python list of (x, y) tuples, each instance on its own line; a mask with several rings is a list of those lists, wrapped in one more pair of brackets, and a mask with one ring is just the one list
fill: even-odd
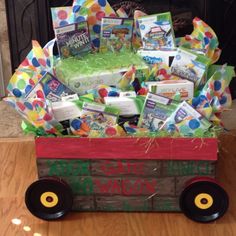
[(8, 27), (6, 19), (5, 1), (0, 0), (0, 50), (2, 54), (3, 78), (5, 87), (11, 77), (11, 59), (8, 40)]

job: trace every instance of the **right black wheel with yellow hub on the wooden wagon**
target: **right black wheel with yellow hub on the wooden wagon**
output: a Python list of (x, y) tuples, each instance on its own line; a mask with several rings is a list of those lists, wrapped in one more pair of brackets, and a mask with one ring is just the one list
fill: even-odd
[(180, 208), (191, 220), (208, 223), (225, 214), (229, 198), (214, 179), (195, 179), (180, 196)]

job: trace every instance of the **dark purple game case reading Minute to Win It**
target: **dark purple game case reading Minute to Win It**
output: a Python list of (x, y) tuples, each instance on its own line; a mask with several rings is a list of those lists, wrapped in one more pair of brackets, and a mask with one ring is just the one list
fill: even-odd
[(60, 57), (83, 57), (91, 48), (87, 21), (55, 28)]

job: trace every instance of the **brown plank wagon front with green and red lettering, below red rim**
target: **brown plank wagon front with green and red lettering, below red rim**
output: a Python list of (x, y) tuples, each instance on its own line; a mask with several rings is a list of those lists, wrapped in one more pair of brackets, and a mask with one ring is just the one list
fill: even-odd
[(215, 161), (37, 159), (39, 178), (70, 185), (74, 211), (180, 211), (195, 177), (215, 177)]

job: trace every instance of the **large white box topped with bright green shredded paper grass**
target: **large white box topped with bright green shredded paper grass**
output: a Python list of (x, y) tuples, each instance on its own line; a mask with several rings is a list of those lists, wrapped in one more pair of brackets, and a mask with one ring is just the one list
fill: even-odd
[(56, 75), (71, 90), (83, 95), (101, 84), (118, 85), (132, 65), (136, 68), (135, 77), (143, 82), (149, 68), (138, 55), (131, 52), (88, 54), (82, 60), (60, 60), (56, 65)]

